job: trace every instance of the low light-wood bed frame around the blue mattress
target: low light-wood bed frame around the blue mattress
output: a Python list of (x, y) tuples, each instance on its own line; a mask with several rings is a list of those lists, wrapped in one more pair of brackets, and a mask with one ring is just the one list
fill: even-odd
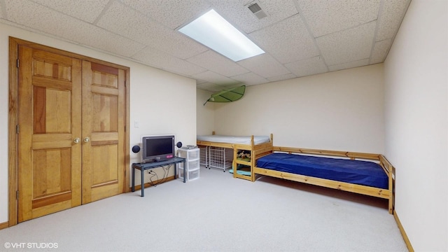
[[(339, 181), (331, 181), (328, 179), (319, 179), (311, 176), (303, 176), (299, 174), (292, 174), (288, 172), (278, 172), (272, 169), (265, 169), (262, 167), (256, 167), (255, 160), (261, 158), (262, 156), (269, 155), (274, 152), (283, 152), (283, 153), (299, 153), (299, 154), (309, 154), (309, 155), (324, 155), (331, 157), (344, 157), (350, 158), (351, 160), (360, 159), (360, 160), (370, 160), (373, 162), (379, 163), (381, 167), (384, 169), (388, 176), (388, 189), (383, 188), (374, 188), (370, 186), (360, 186), (353, 183), (345, 183)], [(255, 154), (255, 155), (254, 155)], [(394, 167), (391, 165), (384, 155), (381, 154), (371, 154), (371, 153), (353, 153), (353, 152), (344, 152), (344, 151), (325, 151), (325, 150), (316, 150), (316, 149), (307, 149), (307, 148), (290, 148), (290, 147), (279, 147), (272, 146), (271, 149), (265, 148), (264, 151), (255, 150), (255, 153), (252, 154), (253, 169), (252, 170), (252, 181), (255, 181), (255, 176), (257, 174), (263, 176), (273, 176), (280, 179), (288, 179), (290, 181), (298, 181), (302, 183), (308, 183), (316, 186), (323, 186), (326, 188), (334, 188), (337, 190), (344, 190), (351, 193), (358, 193), (361, 195), (369, 195), (372, 197), (379, 197), (382, 199), (388, 200), (388, 212), (389, 214), (393, 214), (393, 188), (394, 188)]]

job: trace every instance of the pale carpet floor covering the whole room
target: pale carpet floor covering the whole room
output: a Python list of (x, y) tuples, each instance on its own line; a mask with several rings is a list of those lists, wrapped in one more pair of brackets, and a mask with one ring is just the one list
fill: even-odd
[[(407, 251), (387, 201), (218, 169), (0, 230), (0, 251)], [(51, 247), (50, 247), (51, 246)], [(56, 246), (56, 247), (55, 247)]]

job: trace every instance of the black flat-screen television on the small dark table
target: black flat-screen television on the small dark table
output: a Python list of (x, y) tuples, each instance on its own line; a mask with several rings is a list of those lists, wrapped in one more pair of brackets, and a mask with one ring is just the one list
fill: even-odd
[(141, 162), (158, 162), (174, 158), (174, 136), (141, 138)]

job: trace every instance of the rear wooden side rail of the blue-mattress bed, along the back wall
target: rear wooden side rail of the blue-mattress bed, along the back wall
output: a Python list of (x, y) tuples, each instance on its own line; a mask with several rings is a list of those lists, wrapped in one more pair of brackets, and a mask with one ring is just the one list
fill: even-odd
[(328, 150), (318, 150), (310, 148), (293, 148), (293, 147), (282, 147), (274, 146), (274, 151), (281, 151), (286, 153), (303, 153), (303, 154), (313, 154), (313, 155), (329, 155), (336, 157), (344, 157), (351, 159), (366, 159), (366, 160), (380, 160), (380, 154), (374, 153), (356, 153), (350, 151), (328, 151)]

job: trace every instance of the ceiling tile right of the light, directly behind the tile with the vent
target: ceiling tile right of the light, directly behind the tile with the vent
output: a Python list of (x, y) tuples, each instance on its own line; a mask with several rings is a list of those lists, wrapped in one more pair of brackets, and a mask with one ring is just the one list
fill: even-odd
[(283, 64), (319, 54), (300, 15), (254, 31), (249, 37)]

